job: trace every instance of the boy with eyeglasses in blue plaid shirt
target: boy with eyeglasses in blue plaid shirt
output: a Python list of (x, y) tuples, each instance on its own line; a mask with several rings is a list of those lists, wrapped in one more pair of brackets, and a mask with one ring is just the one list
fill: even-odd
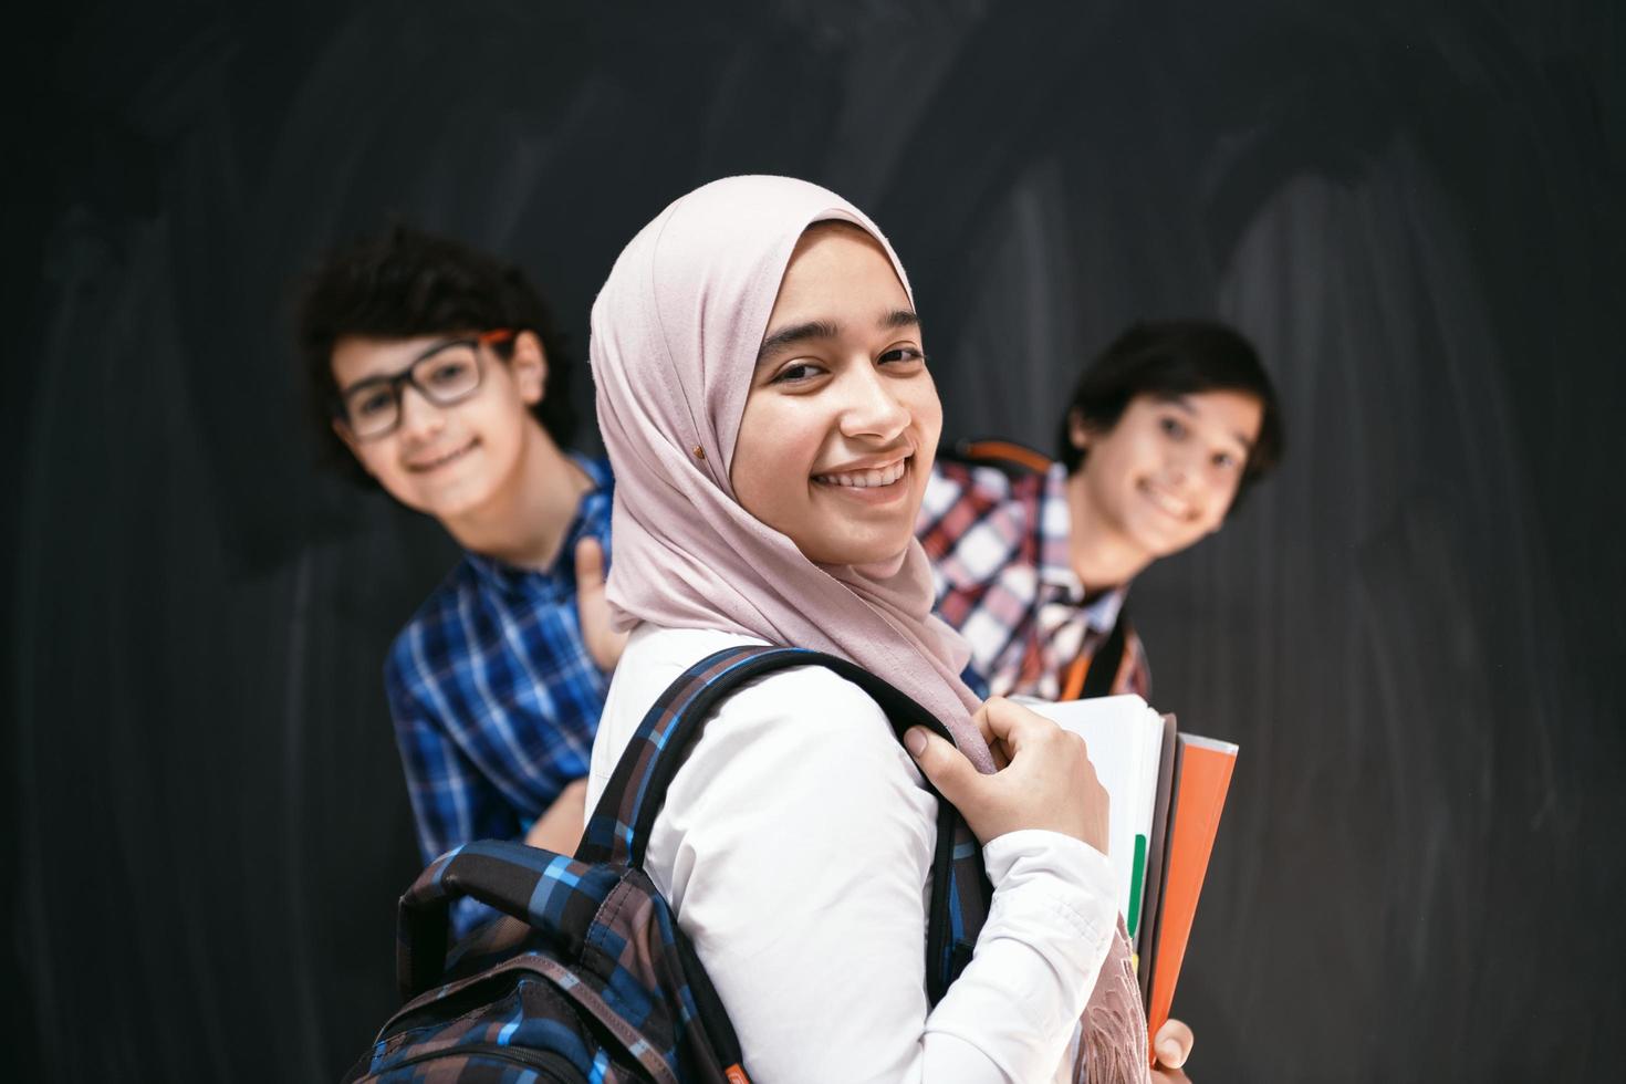
[[(424, 860), (475, 839), (572, 852), (620, 639), (610, 466), (566, 450), (545, 302), (512, 263), (397, 226), (328, 255), (298, 327), (332, 458), (465, 551), (384, 668)], [(489, 915), (465, 900), (454, 923)]]

